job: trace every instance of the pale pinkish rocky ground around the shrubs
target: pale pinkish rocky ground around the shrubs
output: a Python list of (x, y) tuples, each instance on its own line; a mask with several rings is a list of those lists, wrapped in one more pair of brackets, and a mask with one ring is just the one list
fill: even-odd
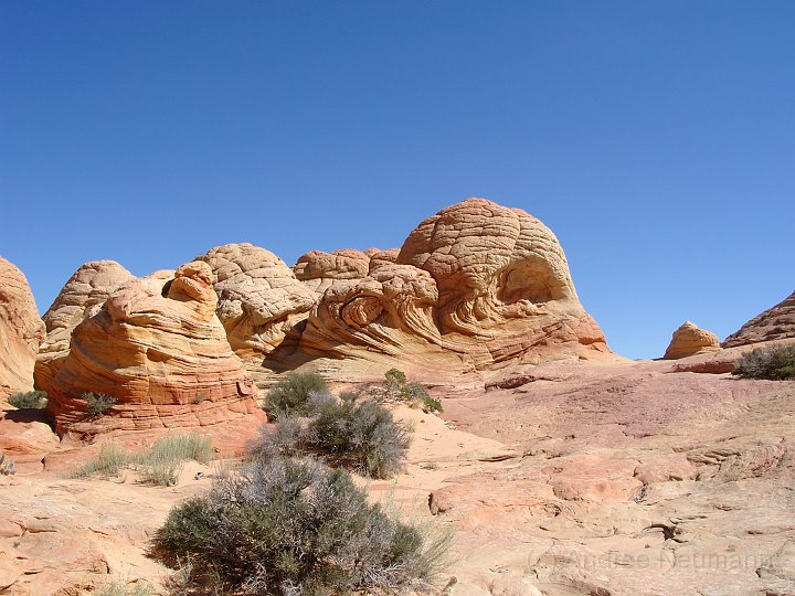
[[(795, 594), (795, 382), (682, 366), (516, 368), (446, 392), (444, 419), (401, 408), (409, 466), (370, 490), (455, 529), (446, 594)], [(149, 540), (220, 464), (187, 467), (172, 488), (66, 479), (97, 445), (59, 444), (11, 409), (0, 425), (20, 462), (0, 477), (0, 593), (159, 586), (170, 572)], [(233, 455), (254, 427), (214, 428), (215, 444)]]

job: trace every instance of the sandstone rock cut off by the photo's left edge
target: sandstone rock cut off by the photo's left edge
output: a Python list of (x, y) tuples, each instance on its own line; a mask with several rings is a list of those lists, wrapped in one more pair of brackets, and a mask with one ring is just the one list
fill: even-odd
[(0, 257), (0, 400), (33, 389), (33, 366), (44, 323), (28, 279)]

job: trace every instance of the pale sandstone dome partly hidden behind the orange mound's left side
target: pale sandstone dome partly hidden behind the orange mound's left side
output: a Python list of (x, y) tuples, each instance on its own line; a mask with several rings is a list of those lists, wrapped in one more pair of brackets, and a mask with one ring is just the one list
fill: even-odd
[(36, 387), (51, 390), (52, 379), (68, 354), (72, 331), (135, 276), (115, 260), (93, 260), (81, 266), (66, 281), (42, 319), (46, 338), (35, 365)]

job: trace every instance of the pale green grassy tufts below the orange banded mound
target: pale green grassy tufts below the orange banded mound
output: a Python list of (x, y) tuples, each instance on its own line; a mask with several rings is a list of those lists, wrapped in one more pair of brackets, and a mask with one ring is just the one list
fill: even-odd
[(210, 437), (191, 434), (173, 437), (161, 437), (151, 447), (131, 454), (114, 443), (106, 443), (99, 449), (96, 459), (84, 464), (72, 473), (73, 478), (89, 476), (118, 476), (121, 470), (132, 467), (140, 471), (142, 482), (159, 487), (177, 483), (182, 464), (189, 459), (208, 464), (212, 459), (212, 440)]

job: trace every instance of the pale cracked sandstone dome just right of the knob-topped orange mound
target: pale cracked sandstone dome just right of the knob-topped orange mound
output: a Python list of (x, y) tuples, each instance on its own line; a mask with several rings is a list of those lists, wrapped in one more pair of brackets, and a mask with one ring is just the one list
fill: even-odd
[(218, 316), (250, 372), (309, 316), (316, 296), (276, 255), (252, 244), (226, 244), (198, 257), (218, 277)]

